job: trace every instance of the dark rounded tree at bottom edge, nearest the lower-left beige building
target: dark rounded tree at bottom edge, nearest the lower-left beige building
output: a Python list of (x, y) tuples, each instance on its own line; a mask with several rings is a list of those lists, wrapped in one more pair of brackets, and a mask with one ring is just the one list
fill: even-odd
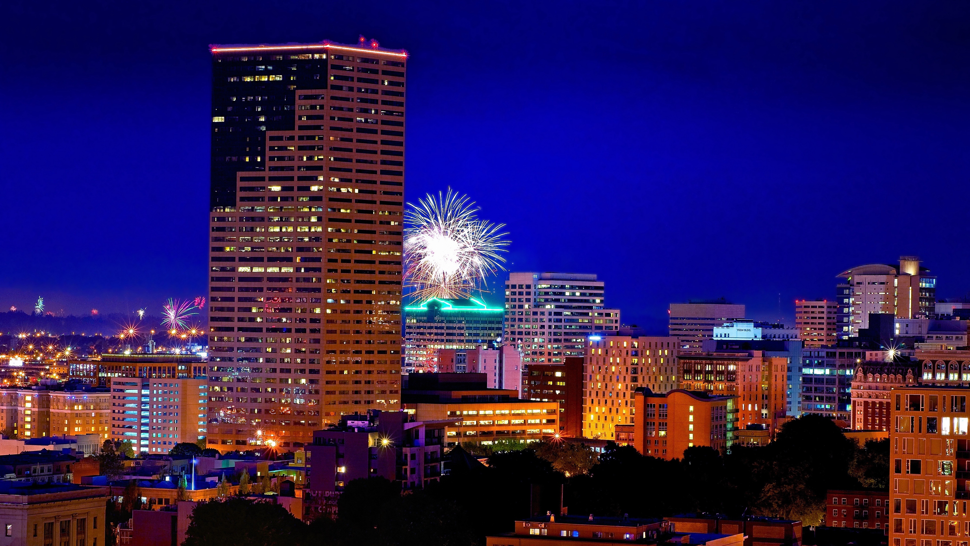
[(294, 546), (305, 544), (306, 534), (303, 522), (282, 506), (237, 496), (200, 502), (182, 546)]

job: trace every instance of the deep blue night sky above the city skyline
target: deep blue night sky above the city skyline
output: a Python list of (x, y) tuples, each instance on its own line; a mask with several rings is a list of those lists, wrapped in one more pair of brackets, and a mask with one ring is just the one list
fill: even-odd
[(628, 323), (722, 295), (791, 321), (900, 254), (970, 290), (967, 4), (14, 1), (0, 20), (0, 309), (204, 293), (207, 45), (359, 34), (411, 53), (407, 199), (469, 193), (508, 224), (510, 268), (596, 272)]

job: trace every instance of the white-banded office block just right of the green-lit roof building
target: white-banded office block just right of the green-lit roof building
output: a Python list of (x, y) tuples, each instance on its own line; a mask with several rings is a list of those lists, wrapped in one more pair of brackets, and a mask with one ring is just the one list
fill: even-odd
[(587, 335), (620, 328), (620, 310), (606, 307), (603, 290), (593, 274), (509, 273), (504, 342), (526, 365), (584, 356)]

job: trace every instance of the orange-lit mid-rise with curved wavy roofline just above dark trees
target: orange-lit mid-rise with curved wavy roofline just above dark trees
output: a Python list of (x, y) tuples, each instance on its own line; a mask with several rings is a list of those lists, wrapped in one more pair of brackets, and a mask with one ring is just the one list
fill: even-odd
[(679, 459), (684, 450), (709, 446), (724, 452), (733, 440), (737, 396), (675, 390), (634, 392), (633, 445), (643, 455)]

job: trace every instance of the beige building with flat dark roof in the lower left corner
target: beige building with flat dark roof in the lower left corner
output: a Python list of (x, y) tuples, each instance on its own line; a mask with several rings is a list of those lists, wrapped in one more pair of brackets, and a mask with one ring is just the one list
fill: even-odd
[(0, 546), (103, 546), (108, 489), (0, 482)]

